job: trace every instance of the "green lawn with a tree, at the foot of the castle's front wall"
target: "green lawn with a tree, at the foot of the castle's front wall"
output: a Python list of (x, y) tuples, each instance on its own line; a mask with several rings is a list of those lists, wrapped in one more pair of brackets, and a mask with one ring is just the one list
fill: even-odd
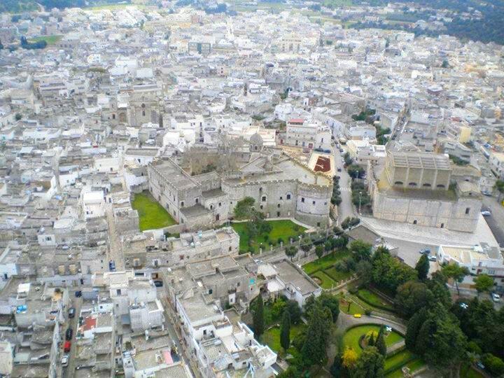
[[(257, 235), (252, 239), (251, 247), (255, 252), (259, 251), (260, 243), (262, 243), (262, 251), (269, 250), (269, 241), (274, 241), (275, 244), (278, 243), (278, 239), (281, 237), (283, 239), (283, 244), (285, 245), (289, 239), (292, 237), (297, 240), (297, 237), (301, 235), (306, 228), (295, 224), (292, 221), (268, 221), (272, 225), (272, 230), (268, 234), (267, 240), (266, 235)], [(246, 232), (246, 222), (242, 223), (232, 223), (232, 228), (238, 233), (240, 237), (239, 249), (240, 251), (248, 251), (248, 233)]]

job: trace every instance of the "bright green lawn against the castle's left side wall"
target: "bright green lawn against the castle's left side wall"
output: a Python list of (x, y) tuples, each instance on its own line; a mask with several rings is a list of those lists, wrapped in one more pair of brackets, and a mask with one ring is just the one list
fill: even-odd
[(176, 224), (174, 218), (154, 199), (151, 193), (142, 192), (134, 195), (132, 207), (139, 213), (140, 231), (155, 230)]

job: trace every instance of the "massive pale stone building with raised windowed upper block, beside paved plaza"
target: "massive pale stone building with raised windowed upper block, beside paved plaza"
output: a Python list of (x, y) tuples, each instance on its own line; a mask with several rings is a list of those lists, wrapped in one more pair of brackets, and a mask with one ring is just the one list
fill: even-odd
[(391, 152), (379, 177), (370, 181), (376, 218), (472, 232), (481, 194), (469, 181), (454, 181), (447, 155)]

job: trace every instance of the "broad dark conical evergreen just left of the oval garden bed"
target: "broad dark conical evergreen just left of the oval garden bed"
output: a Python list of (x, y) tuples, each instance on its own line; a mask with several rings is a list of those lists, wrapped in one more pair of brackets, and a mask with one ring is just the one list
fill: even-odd
[(330, 310), (316, 302), (311, 310), (311, 316), (309, 316), (307, 337), (301, 349), (305, 365), (317, 365), (325, 360), (331, 323)]

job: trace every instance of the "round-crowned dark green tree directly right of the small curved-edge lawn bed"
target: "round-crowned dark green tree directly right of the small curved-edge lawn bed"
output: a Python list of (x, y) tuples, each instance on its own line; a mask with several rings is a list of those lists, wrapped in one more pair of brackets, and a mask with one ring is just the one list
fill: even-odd
[(412, 316), (433, 301), (433, 293), (427, 285), (418, 281), (407, 281), (398, 287), (395, 294), (395, 308), (404, 316)]

